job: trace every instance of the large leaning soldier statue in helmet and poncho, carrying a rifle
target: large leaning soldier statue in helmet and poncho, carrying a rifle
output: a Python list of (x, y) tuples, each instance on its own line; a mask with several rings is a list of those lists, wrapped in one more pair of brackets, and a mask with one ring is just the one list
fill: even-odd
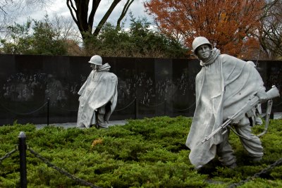
[[(207, 142), (202, 143), (202, 140), (244, 106), (250, 97), (257, 95), (263, 101), (266, 95), (264, 82), (253, 65), (212, 49), (205, 37), (196, 37), (192, 49), (200, 59), (202, 70), (195, 80), (196, 108), (186, 140), (190, 161), (200, 170), (217, 154), (222, 165), (235, 168), (236, 158), (228, 143), (229, 129), (225, 134), (214, 134)], [(234, 127), (244, 136), (240, 141), (250, 158), (259, 161), (263, 156), (262, 142), (250, 129), (250, 119), (254, 116), (255, 113), (245, 115)]]

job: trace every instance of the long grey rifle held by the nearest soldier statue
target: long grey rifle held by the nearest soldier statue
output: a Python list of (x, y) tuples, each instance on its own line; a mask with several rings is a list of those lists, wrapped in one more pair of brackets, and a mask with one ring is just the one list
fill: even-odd
[[(266, 92), (266, 96), (267, 96), (267, 100), (280, 96), (277, 87), (273, 85), (272, 88), (269, 89), (268, 92)], [(237, 111), (234, 115), (232, 115), (231, 118), (228, 118), (223, 124), (221, 124), (211, 134), (204, 137), (202, 144), (204, 142), (207, 142), (209, 139), (211, 139), (214, 136), (214, 134), (218, 133), (220, 130), (225, 129), (230, 123), (238, 122), (241, 118), (244, 117), (245, 113), (250, 111), (252, 108), (255, 108), (257, 104), (259, 104), (259, 97), (254, 96), (252, 99), (250, 99), (250, 101), (247, 102), (247, 104), (245, 104), (242, 108), (240, 108), (239, 111)]]

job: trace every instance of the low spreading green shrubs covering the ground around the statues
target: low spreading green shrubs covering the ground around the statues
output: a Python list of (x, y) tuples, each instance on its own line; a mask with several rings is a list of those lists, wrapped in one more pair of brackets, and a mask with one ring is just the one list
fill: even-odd
[[(35, 125), (0, 127), (0, 157), (16, 148), (21, 131), (27, 146), (75, 177), (99, 187), (227, 187), (252, 177), (282, 156), (282, 120), (271, 120), (261, 137), (264, 157), (251, 163), (231, 132), (230, 142), (238, 160), (234, 170), (222, 167), (214, 158), (204, 172), (197, 172), (185, 146), (192, 118), (156, 117), (128, 120), (123, 126), (97, 130)], [(255, 126), (259, 134), (264, 127)], [(18, 151), (0, 164), (0, 187), (19, 187)], [(277, 165), (259, 178), (240, 187), (281, 187), (282, 167)], [(27, 150), (28, 187), (86, 187), (50, 168)]]

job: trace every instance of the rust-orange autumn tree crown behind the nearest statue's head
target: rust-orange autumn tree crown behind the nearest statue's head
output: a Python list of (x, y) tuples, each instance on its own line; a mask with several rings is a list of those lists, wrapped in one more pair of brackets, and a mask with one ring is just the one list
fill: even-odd
[(164, 34), (183, 39), (191, 47), (204, 36), (222, 53), (253, 58), (259, 49), (262, 0), (149, 0), (147, 12)]

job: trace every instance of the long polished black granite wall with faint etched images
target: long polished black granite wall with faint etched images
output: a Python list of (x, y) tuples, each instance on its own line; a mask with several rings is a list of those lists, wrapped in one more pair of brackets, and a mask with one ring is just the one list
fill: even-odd
[[(78, 90), (91, 68), (90, 57), (0, 55), (0, 125), (75, 122)], [(192, 116), (195, 111), (197, 60), (103, 58), (118, 76), (118, 104), (111, 120), (158, 115)], [(259, 61), (269, 89), (282, 89), (281, 61)], [(281, 98), (273, 109), (281, 112)]]

